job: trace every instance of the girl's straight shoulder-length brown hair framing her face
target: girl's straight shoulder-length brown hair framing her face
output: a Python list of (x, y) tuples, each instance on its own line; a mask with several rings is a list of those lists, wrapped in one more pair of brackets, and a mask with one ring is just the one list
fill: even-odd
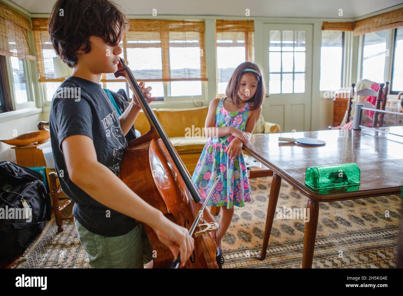
[[(245, 69), (256, 70), (260, 75), (255, 72), (252, 72), (252, 71), (243, 72)], [(260, 69), (260, 67), (257, 64), (252, 63), (252, 62), (244, 62), (242, 64), (239, 64), (239, 66), (237, 66), (233, 75), (231, 76), (231, 79), (229, 80), (225, 94), (227, 95), (227, 97), (230, 97), (234, 101), (234, 103), (237, 105), (237, 107), (239, 107), (239, 105), (238, 105), (239, 82), (241, 81), (242, 75), (244, 75), (246, 73), (251, 73), (251, 74), (255, 75), (256, 80), (258, 81), (258, 87), (256, 88), (255, 94), (253, 95), (253, 97), (251, 97), (248, 100), (249, 109), (255, 110), (255, 109), (258, 109), (263, 103), (263, 97), (265, 95), (264, 86), (266, 85), (264, 77), (262, 75), (262, 70)]]

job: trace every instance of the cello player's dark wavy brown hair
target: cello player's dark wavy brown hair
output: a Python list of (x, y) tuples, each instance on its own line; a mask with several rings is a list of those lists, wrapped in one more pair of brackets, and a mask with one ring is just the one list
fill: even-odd
[(48, 31), (56, 54), (69, 67), (77, 64), (77, 52), (91, 51), (90, 36), (116, 46), (129, 24), (108, 0), (58, 0), (49, 18)]

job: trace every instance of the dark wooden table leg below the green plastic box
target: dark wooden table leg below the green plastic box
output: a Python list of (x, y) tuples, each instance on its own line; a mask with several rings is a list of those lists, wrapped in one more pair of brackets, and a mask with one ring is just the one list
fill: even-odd
[(302, 268), (312, 268), (316, 229), (318, 228), (319, 202), (309, 199), (306, 207), (309, 209), (309, 221), (305, 223), (305, 233), (303, 236)]

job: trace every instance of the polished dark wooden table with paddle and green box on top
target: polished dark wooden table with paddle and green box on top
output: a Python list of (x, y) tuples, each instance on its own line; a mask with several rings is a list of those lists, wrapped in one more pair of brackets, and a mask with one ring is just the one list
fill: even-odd
[[(393, 132), (392, 132), (393, 131)], [(361, 199), (401, 193), (403, 127), (384, 131), (319, 130), (252, 135), (243, 149), (273, 171), (262, 251), (264, 260), (276, 211), (281, 180), (297, 188), (308, 199), (310, 219), (305, 223), (302, 268), (311, 268), (318, 226), (319, 203)], [(326, 142), (320, 146), (279, 142), (278, 137), (309, 137)], [(313, 166), (355, 163), (361, 173), (358, 187), (314, 190), (305, 186), (305, 170)]]

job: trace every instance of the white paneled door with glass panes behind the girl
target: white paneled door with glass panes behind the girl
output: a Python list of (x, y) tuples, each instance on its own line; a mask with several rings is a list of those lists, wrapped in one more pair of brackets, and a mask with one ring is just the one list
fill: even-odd
[(270, 93), (264, 118), (285, 132), (310, 130), (312, 30), (312, 25), (264, 24), (264, 71)]

